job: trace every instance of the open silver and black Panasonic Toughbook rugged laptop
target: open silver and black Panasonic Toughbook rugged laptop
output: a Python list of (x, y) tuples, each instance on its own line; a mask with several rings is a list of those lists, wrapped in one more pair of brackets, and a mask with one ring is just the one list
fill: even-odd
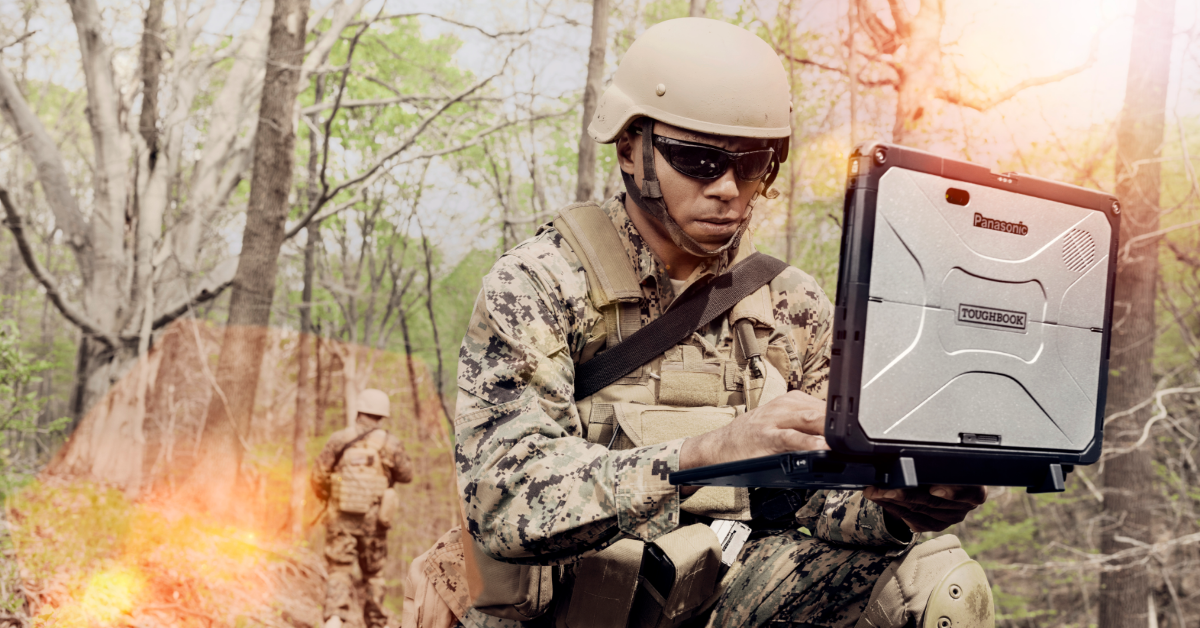
[(826, 439), (674, 484), (1062, 490), (1100, 454), (1121, 207), (890, 144), (850, 160)]

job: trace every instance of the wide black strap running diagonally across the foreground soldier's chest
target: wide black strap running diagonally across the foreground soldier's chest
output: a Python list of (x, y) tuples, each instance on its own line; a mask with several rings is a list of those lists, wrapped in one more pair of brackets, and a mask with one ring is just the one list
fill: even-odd
[(576, 367), (575, 400), (596, 394), (634, 369), (666, 353), (692, 331), (712, 323), (738, 301), (766, 286), (785, 268), (786, 262), (758, 252), (738, 262), (728, 273), (691, 293), (620, 345)]

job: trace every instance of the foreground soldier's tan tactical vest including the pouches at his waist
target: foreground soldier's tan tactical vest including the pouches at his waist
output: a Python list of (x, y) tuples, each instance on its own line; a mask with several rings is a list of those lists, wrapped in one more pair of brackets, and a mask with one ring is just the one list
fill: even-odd
[[(641, 328), (642, 288), (612, 220), (599, 205), (569, 205), (553, 225), (583, 265), (589, 299), (602, 315), (588, 335), (582, 364)], [(748, 239), (742, 251), (752, 252)], [(664, 355), (577, 401), (587, 439), (630, 449), (698, 436), (786, 393), (791, 371), (786, 340), (768, 343), (774, 330), (769, 285), (718, 321), (732, 331), (721, 334), (728, 339), (722, 346), (692, 333)], [(750, 519), (746, 489), (702, 488), (680, 508), (702, 518)], [(574, 584), (564, 587), (570, 596), (558, 600), (556, 623), (671, 627), (716, 602), (721, 546), (708, 525), (684, 526), (654, 540), (676, 568), (667, 594), (646, 584), (644, 545), (622, 539), (575, 566)]]

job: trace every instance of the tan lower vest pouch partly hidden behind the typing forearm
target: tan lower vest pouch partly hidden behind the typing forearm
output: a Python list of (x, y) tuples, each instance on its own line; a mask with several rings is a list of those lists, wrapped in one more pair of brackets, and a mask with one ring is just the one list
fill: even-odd
[[(679, 408), (642, 403), (614, 403), (617, 423), (634, 447), (700, 436), (728, 425), (742, 408), (702, 406)], [(694, 515), (733, 521), (750, 520), (750, 492), (733, 486), (704, 486), (679, 506)]]

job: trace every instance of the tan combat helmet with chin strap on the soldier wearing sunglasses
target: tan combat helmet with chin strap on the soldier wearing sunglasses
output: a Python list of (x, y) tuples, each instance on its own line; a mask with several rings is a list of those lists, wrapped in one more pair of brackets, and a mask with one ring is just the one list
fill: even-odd
[[(638, 189), (622, 173), (625, 190), (643, 211), (666, 228), (680, 249), (713, 257), (737, 246), (750, 214), (730, 241), (708, 251), (683, 232), (667, 213), (654, 172), (654, 120), (701, 133), (775, 139), (775, 161), (758, 192), (766, 193), (787, 161), (791, 134), (791, 86), (775, 50), (752, 32), (706, 18), (668, 19), (647, 29), (620, 60), (612, 84), (600, 97), (588, 134), (601, 144), (616, 142), (640, 120), (642, 177)], [(757, 198), (757, 197), (756, 197)]]

